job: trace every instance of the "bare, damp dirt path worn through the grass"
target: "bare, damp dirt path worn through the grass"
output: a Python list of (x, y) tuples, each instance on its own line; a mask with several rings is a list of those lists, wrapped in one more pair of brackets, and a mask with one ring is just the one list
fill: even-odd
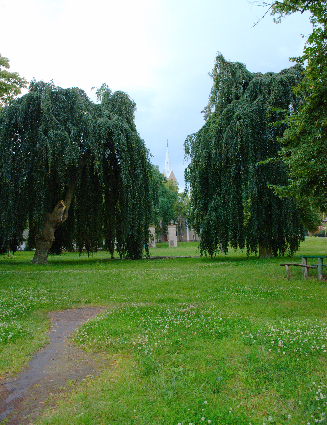
[(30, 424), (42, 413), (49, 393), (67, 391), (67, 380), (80, 381), (108, 367), (109, 361), (90, 356), (69, 343), (69, 335), (102, 310), (83, 308), (49, 313), (49, 344), (37, 351), (25, 370), (0, 381), (4, 384), (0, 385), (0, 422), (6, 418), (8, 425)]

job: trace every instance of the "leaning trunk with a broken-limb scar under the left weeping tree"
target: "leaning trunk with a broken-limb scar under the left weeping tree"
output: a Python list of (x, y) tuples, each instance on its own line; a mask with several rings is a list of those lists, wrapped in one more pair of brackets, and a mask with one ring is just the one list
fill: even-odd
[[(85, 165), (85, 155), (82, 156), (81, 168)], [(31, 264), (48, 264), (48, 255), (51, 245), (54, 243), (54, 231), (63, 224), (68, 217), (68, 210), (73, 199), (75, 187), (77, 184), (77, 174), (69, 182), (65, 200), (57, 202), (52, 212), (46, 211), (44, 214), (44, 224), (42, 232), (36, 237), (36, 251)]]

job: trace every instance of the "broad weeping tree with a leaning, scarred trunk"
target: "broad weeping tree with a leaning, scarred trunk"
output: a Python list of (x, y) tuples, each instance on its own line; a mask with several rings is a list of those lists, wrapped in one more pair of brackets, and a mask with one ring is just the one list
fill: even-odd
[(150, 155), (135, 103), (106, 85), (94, 104), (80, 88), (33, 80), (0, 115), (0, 244), (15, 250), (28, 220), (32, 263), (76, 243), (121, 257), (148, 252)]

